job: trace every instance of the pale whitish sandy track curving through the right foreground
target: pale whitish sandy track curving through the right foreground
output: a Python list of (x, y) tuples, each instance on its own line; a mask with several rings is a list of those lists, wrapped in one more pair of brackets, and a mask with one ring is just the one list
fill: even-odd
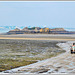
[(66, 52), (34, 64), (7, 70), (1, 73), (25, 73), (25, 74), (48, 74), (48, 73), (75, 73), (75, 55), (70, 54), (70, 46), (75, 41), (58, 43)]

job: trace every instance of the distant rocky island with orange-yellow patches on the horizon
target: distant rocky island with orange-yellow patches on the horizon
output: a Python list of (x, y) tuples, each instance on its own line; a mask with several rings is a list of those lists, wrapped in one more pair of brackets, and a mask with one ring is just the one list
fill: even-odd
[(44, 33), (44, 34), (75, 34), (72, 31), (66, 31), (64, 28), (54, 28), (50, 29), (47, 27), (25, 27), (23, 29), (16, 28), (14, 30), (10, 30), (7, 34), (35, 34), (35, 33)]

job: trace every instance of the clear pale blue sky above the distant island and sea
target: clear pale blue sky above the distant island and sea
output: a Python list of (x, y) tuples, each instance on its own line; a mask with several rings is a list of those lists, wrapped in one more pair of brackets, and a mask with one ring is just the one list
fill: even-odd
[(0, 2), (0, 26), (75, 28), (75, 2)]

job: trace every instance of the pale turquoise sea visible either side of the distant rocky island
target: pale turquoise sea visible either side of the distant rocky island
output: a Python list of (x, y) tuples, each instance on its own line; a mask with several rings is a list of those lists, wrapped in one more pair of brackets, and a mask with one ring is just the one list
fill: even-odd
[[(19, 29), (23, 29), (25, 26), (0, 26), (0, 34), (1, 33), (6, 33), (10, 30), (13, 30), (15, 28), (19, 28)], [(55, 27), (52, 27), (52, 28), (55, 28)], [(51, 28), (51, 29), (52, 29)], [(64, 28), (65, 30), (67, 31), (75, 31), (75, 28)]]

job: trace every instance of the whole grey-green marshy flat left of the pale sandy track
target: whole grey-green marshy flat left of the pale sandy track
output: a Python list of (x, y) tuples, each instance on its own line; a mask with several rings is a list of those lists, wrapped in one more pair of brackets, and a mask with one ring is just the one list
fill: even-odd
[(49, 40), (0, 39), (0, 72), (29, 65), (65, 52)]

